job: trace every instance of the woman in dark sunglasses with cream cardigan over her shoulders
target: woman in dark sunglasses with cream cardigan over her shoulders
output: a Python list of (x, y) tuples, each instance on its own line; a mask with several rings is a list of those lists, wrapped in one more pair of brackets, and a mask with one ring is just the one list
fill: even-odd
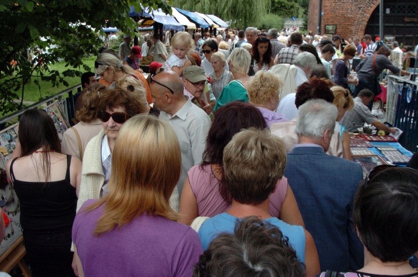
[(77, 211), (87, 199), (99, 199), (106, 194), (119, 129), (132, 116), (147, 112), (148, 107), (137, 93), (122, 89), (100, 93), (98, 118), (103, 129), (90, 140), (84, 152)]

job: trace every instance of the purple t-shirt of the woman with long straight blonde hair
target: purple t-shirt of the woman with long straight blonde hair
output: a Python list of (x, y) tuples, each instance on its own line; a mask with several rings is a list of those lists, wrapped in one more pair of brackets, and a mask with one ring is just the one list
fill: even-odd
[(94, 236), (104, 205), (82, 209), (73, 225), (84, 275), (88, 276), (187, 276), (202, 254), (199, 236), (190, 227), (160, 216), (141, 215), (122, 228)]

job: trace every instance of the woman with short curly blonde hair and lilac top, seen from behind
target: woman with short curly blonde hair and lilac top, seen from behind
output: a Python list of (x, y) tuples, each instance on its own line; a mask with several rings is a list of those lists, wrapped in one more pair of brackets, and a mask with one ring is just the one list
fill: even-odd
[(263, 70), (258, 71), (248, 82), (250, 103), (261, 111), (269, 128), (273, 123), (288, 121), (283, 114), (275, 112), (279, 105), (279, 93), (282, 87), (282, 78)]

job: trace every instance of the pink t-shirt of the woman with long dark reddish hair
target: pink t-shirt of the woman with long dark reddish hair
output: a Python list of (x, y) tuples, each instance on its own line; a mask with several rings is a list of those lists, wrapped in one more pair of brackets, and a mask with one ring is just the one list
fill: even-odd
[[(219, 192), (219, 180), (213, 175), (210, 165), (193, 166), (188, 172), (190, 187), (197, 201), (198, 216), (213, 217), (225, 212), (230, 205)], [(287, 178), (279, 181), (276, 191), (270, 196), (269, 212), (278, 217), (287, 193)]]

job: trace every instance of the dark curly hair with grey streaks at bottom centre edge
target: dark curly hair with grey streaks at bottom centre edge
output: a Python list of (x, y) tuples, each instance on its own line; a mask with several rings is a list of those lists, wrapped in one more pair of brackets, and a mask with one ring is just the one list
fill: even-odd
[(222, 233), (194, 266), (194, 277), (304, 277), (301, 263), (282, 231), (256, 216), (237, 220), (233, 234)]

